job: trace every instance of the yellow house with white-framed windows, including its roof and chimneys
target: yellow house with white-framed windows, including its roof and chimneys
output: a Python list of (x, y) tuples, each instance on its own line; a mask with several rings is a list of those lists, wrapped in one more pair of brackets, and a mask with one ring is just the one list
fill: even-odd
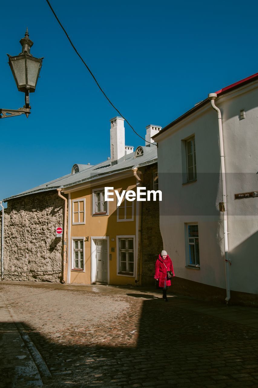
[[(123, 197), (117, 206), (114, 191), (120, 196), (122, 191), (136, 192), (142, 186), (141, 170), (157, 163), (157, 148), (146, 143), (133, 152), (124, 143), (124, 120), (110, 121), (111, 158), (95, 166), (74, 165), (62, 185), (68, 194), (67, 283), (141, 281), (141, 201)], [(114, 201), (105, 201), (105, 187), (113, 188)]]

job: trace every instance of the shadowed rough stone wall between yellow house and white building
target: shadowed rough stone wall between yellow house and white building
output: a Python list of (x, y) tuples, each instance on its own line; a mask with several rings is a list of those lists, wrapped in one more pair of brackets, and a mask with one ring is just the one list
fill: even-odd
[[(153, 190), (153, 172), (157, 164), (146, 168), (143, 174), (143, 187)], [(160, 234), (159, 201), (142, 202), (142, 285), (154, 286), (155, 262), (163, 249)]]

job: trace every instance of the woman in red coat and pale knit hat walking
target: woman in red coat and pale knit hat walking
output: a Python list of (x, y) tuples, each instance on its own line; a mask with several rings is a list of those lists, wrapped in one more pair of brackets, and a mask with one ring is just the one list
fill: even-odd
[(154, 279), (158, 281), (158, 286), (163, 289), (162, 298), (167, 302), (167, 289), (171, 286), (171, 281), (167, 280), (167, 271), (172, 272), (172, 277), (175, 276), (172, 260), (166, 251), (162, 251), (158, 256), (158, 260), (155, 265)]

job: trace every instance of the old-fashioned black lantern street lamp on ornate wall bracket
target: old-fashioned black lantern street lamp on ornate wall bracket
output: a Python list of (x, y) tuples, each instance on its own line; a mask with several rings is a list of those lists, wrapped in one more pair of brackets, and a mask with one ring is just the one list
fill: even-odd
[(27, 118), (31, 113), (29, 106), (29, 93), (35, 92), (38, 76), (43, 58), (35, 58), (31, 55), (30, 50), (33, 42), (29, 39), (28, 28), (24, 38), (20, 40), (22, 52), (19, 55), (9, 57), (9, 65), (14, 76), (15, 83), (19, 92), (25, 93), (25, 105), (19, 109), (0, 109), (0, 118), (20, 116), (26, 114)]

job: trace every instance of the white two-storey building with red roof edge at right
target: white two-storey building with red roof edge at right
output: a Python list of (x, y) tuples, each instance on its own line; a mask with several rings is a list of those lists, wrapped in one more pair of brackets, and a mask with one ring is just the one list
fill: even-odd
[(257, 304), (258, 73), (209, 97), (153, 137), (163, 245), (175, 290)]

